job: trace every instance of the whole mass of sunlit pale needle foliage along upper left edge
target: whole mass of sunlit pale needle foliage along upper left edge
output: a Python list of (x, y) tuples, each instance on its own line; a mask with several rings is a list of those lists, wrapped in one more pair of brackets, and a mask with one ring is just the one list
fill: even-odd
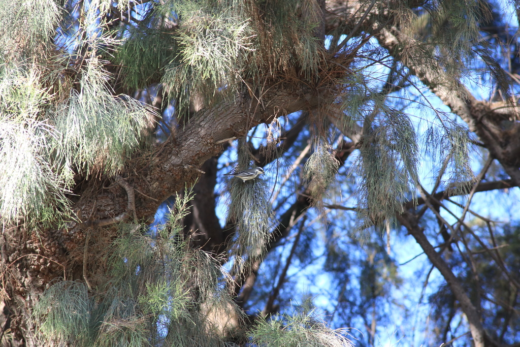
[(110, 2), (91, 3), (79, 23), (80, 61), (50, 40), (62, 5), (36, 0), (0, 5), (2, 25), (12, 28), (0, 34), (2, 223), (70, 219), (66, 196), (74, 174), (113, 175), (143, 144), (148, 111), (128, 96), (113, 95), (106, 61), (98, 59), (118, 44), (102, 30), (107, 23), (99, 9), (108, 10)]

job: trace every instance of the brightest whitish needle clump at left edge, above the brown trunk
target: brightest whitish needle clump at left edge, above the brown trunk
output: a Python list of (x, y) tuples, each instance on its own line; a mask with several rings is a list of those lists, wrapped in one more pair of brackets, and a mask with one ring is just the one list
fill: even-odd
[(48, 162), (47, 124), (0, 118), (0, 215), (2, 222), (52, 222), (68, 205), (67, 186)]

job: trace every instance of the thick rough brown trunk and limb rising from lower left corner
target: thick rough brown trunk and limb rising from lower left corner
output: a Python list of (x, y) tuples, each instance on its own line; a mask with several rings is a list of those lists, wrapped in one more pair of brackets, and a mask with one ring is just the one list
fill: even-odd
[[(119, 177), (89, 177), (80, 181), (74, 189), (75, 196), (71, 197), (75, 199), (73, 210), (79, 221), (71, 221), (64, 228), (36, 230), (23, 224), (6, 228), (2, 234), (2, 288), (13, 312), (11, 329), (16, 338), (25, 338), (27, 346), (37, 344), (31, 307), (46, 285), (59, 277), (83, 279), (83, 265), (70, 262), (69, 255), (83, 254), (80, 250), (84, 247), (86, 228), (91, 228), (96, 239), (107, 233), (100, 226), (109, 227), (134, 214), (139, 221), (151, 222), (162, 201), (184, 189), (186, 184), (192, 184), (205, 170), (207, 173), (201, 177), (197, 189), (209, 190), (215, 179), (216, 163), (210, 160), (203, 164), (222, 151), (226, 139), (243, 136), (251, 127), (274, 117), (315, 108), (319, 99), (310, 88), (295, 89), (279, 83), (263, 95), (266, 107), (245, 93), (235, 101), (203, 109), (194, 114), (176, 138), (158, 145), (151, 155), (136, 158), (133, 170), (120, 174), (124, 182), (118, 183)], [(255, 109), (256, 112), (250, 112)], [(129, 199), (131, 192), (134, 203)], [(199, 195), (197, 199), (207, 199), (198, 201), (199, 207), (202, 203), (209, 204), (204, 208), (206, 211), (214, 204), (212, 195)], [(193, 225), (207, 233), (197, 243), (211, 238), (205, 247), (222, 251), (226, 236), (220, 232), (215, 217), (206, 222)]]

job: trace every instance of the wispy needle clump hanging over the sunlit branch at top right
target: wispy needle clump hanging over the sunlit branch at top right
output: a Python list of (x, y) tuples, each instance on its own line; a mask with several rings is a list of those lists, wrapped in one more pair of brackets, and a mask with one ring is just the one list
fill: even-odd
[(491, 6), (486, 2), (465, 0), (426, 4), (423, 11), (409, 19), (410, 35), (419, 41), (403, 47), (403, 54), (417, 67), (443, 70), (445, 73), (437, 73), (431, 82), (456, 90), (462, 90), (460, 80), (470, 75), (472, 69), (469, 67), (482, 59), (508, 98), (511, 81), (490, 54), (487, 40), (482, 40), (482, 27), (492, 19)]

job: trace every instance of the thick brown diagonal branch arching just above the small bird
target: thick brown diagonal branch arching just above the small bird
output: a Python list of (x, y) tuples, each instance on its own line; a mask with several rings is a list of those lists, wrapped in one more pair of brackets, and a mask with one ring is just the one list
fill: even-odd
[[(243, 136), (251, 127), (268, 122), (274, 117), (315, 108), (319, 100), (321, 96), (310, 88), (295, 90), (280, 83), (264, 93), (263, 105), (267, 105), (265, 108), (244, 93), (235, 101), (221, 102), (200, 110), (176, 138), (170, 138), (159, 145), (151, 157), (145, 158), (146, 165), (137, 168), (138, 175), (133, 178), (133, 182), (131, 178), (136, 175), (127, 174), (126, 181), (141, 192), (135, 197), (137, 218), (152, 219), (162, 201), (184, 189), (186, 184), (193, 183), (201, 174), (199, 168), (202, 164), (222, 151), (222, 140)], [(250, 104), (255, 102), (258, 104), (257, 112), (250, 114)], [(93, 181), (95, 180), (90, 180), (91, 183), (82, 190), (93, 189)], [(75, 191), (75, 194), (81, 195), (83, 191)], [(98, 194), (96, 199), (102, 203), (98, 203), (93, 220), (112, 219), (112, 216), (120, 215), (124, 212), (125, 198), (123, 189), (118, 191), (111, 188)], [(100, 205), (102, 208), (99, 208)], [(74, 209), (92, 211), (94, 207), (93, 199), (83, 198), (76, 203)]]

